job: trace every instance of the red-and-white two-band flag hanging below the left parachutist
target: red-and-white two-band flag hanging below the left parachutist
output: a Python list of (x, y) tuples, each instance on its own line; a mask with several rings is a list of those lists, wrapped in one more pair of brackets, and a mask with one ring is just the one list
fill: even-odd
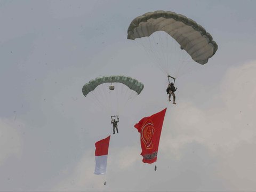
[(106, 174), (108, 146), (110, 135), (100, 141), (95, 142), (95, 170), (94, 174)]

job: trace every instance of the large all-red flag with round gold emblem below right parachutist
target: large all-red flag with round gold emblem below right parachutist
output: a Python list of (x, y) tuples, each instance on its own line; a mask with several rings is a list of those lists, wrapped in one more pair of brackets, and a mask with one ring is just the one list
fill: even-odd
[(144, 117), (134, 127), (140, 133), (140, 144), (144, 163), (154, 163), (164, 122), (166, 108), (150, 117)]

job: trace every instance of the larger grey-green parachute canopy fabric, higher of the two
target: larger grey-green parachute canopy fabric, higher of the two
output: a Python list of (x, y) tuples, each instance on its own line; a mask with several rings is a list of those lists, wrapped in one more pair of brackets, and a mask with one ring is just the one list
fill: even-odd
[(128, 28), (127, 39), (149, 37), (156, 31), (165, 31), (172, 36), (181, 49), (202, 65), (218, 50), (217, 43), (201, 25), (171, 11), (148, 12), (135, 18)]

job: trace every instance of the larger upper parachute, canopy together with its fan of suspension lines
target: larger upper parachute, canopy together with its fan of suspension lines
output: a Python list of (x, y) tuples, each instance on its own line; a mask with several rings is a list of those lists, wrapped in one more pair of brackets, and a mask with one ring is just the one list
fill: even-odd
[(148, 12), (133, 19), (127, 39), (141, 45), (156, 66), (174, 78), (204, 65), (218, 50), (201, 25), (171, 11)]

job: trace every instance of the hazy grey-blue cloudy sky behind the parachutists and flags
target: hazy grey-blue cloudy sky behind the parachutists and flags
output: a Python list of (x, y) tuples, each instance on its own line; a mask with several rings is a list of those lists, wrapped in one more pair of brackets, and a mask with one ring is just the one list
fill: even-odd
[[(0, 191), (255, 191), (255, 6), (0, 1)], [(130, 22), (156, 10), (186, 15), (218, 44), (206, 65), (177, 79), (177, 105), (166, 76), (127, 39)], [(111, 135), (107, 174), (94, 175), (94, 143), (111, 124), (82, 87), (113, 74), (145, 87)], [(157, 162), (143, 164), (134, 124), (165, 107)]]

